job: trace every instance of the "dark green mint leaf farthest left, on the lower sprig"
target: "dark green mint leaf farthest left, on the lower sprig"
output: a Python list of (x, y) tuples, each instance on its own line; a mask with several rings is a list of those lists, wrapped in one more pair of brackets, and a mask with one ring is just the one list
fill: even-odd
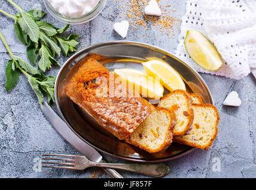
[(20, 77), (20, 72), (17, 69), (12, 68), (14, 60), (10, 59), (5, 68), (5, 89), (9, 93), (18, 83), (18, 78)]

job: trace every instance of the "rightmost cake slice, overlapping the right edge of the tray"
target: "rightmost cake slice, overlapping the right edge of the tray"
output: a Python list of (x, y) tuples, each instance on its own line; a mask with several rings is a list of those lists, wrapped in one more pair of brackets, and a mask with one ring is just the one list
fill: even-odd
[(189, 135), (174, 137), (174, 142), (206, 149), (211, 146), (218, 132), (220, 116), (213, 105), (192, 105), (194, 121)]

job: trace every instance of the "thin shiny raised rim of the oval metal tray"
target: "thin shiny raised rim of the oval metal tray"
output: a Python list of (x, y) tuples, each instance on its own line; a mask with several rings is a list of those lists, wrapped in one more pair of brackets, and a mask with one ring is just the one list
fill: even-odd
[(128, 161), (132, 161), (132, 162), (146, 162), (146, 163), (154, 163), (154, 162), (166, 162), (166, 161), (169, 161), (169, 160), (174, 160), (174, 159), (178, 159), (182, 156), (185, 156), (186, 154), (189, 154), (191, 153), (192, 151), (194, 151), (196, 148), (195, 147), (192, 147), (190, 150), (187, 150), (186, 152), (184, 153), (181, 153), (181, 154), (178, 154), (177, 156), (172, 156), (172, 157), (165, 157), (165, 158), (161, 158), (161, 159), (151, 159), (151, 160), (147, 160), (147, 159), (135, 159), (135, 158), (130, 158), (130, 157), (125, 157), (125, 156), (120, 156), (120, 155), (117, 155), (117, 154), (112, 154), (112, 153), (108, 153), (104, 150), (101, 150), (100, 148), (98, 147), (95, 147), (94, 145), (92, 145), (91, 143), (89, 143), (87, 140), (85, 140), (84, 138), (81, 137), (81, 135), (79, 135), (73, 128), (72, 126), (70, 126), (69, 122), (66, 121), (66, 119), (64, 118), (63, 116), (63, 113), (60, 109), (60, 103), (58, 102), (58, 96), (57, 96), (57, 85), (58, 85), (58, 82), (60, 80), (60, 74), (61, 72), (63, 71), (63, 69), (66, 67), (66, 65), (69, 63), (69, 61), (73, 58), (75, 58), (77, 55), (81, 54), (82, 52), (84, 52), (85, 50), (87, 49), (95, 49), (97, 47), (100, 47), (100, 46), (106, 46), (106, 45), (116, 45), (116, 44), (131, 44), (131, 45), (138, 45), (138, 46), (144, 46), (144, 47), (147, 47), (147, 48), (153, 48), (153, 49), (156, 49), (156, 50), (160, 50), (161, 52), (165, 53), (166, 55), (169, 55), (171, 56), (172, 58), (176, 59), (178, 62), (181, 62), (181, 64), (184, 64), (186, 65), (190, 71), (192, 71), (196, 77), (198, 77), (203, 85), (205, 86), (206, 90), (208, 91), (208, 94), (209, 94), (209, 98), (211, 100), (211, 104), (214, 105), (214, 100), (213, 100), (213, 97), (212, 97), (212, 94), (211, 94), (211, 91), (209, 90), (209, 87), (208, 85), (206, 84), (205, 80), (203, 80), (203, 78), (201, 77), (201, 75), (194, 69), (192, 68), (192, 66), (190, 66), (189, 64), (186, 64), (186, 62), (184, 62), (182, 59), (178, 58), (177, 56), (175, 56), (173, 53), (165, 50), (165, 49), (162, 49), (161, 47), (158, 47), (158, 46), (153, 46), (153, 45), (148, 45), (146, 43), (141, 43), (141, 42), (134, 42), (134, 41), (128, 41), (128, 40), (116, 40), (116, 41), (110, 41), (110, 42), (100, 42), (100, 43), (95, 43), (93, 45), (89, 45), (87, 47), (82, 47), (78, 52), (76, 52), (74, 55), (72, 55), (69, 59), (67, 59), (66, 62), (64, 62), (64, 64), (61, 66), (60, 68), (60, 71), (58, 71), (58, 74), (57, 74), (57, 77), (56, 77), (56, 81), (55, 81), (55, 85), (54, 85), (54, 96), (55, 96), (55, 101), (56, 101), (56, 105), (57, 105), (57, 109), (58, 109), (58, 112), (60, 113), (60, 116), (61, 116), (61, 119), (63, 119), (63, 121), (67, 124), (67, 126), (69, 126), (69, 128), (76, 134), (76, 136), (78, 136), (79, 138), (81, 138), (82, 141), (84, 141), (85, 143), (87, 143), (88, 145), (90, 145), (91, 147), (95, 148), (95, 150), (97, 151), (100, 151), (101, 153), (104, 153), (104, 154), (107, 154), (109, 156), (113, 156), (113, 157), (116, 157), (118, 159), (122, 159), (122, 160), (128, 160)]

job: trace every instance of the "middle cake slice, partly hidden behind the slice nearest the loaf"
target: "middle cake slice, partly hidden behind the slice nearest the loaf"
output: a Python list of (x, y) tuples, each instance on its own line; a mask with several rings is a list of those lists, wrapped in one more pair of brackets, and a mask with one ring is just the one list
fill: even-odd
[(166, 94), (160, 99), (158, 107), (167, 107), (174, 111), (177, 118), (177, 123), (173, 129), (174, 136), (184, 135), (190, 131), (194, 113), (192, 100), (186, 91), (174, 90)]

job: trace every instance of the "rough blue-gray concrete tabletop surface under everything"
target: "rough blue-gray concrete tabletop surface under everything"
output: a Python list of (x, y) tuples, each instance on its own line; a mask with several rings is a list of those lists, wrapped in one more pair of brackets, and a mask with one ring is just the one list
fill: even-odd
[[(80, 34), (79, 48), (98, 42), (122, 40), (113, 31), (113, 22), (122, 20), (125, 5), (123, 1), (107, 0), (106, 7), (97, 18), (90, 23), (71, 26), (72, 33)], [(16, 0), (24, 10), (37, 8), (38, 3), (45, 10), (42, 1)], [(162, 1), (165, 4), (167, 1)], [(171, 1), (172, 16), (181, 18), (185, 12), (186, 1)], [(6, 0), (0, 1), (0, 8), (15, 14), (16, 9)], [(46, 21), (56, 26), (64, 24), (50, 15)], [(26, 52), (14, 34), (14, 21), (0, 14), (0, 30), (4, 34), (11, 50), (24, 59)], [(179, 25), (174, 26), (175, 36), (159, 35), (158, 29), (135, 30), (130, 28), (125, 40), (149, 43), (162, 47), (174, 53), (178, 43)], [(149, 34), (150, 37), (143, 36)], [(154, 37), (155, 36), (155, 37)], [(158, 36), (158, 37), (157, 37)], [(73, 147), (53, 129), (39, 109), (35, 93), (33, 93), (26, 77), (21, 75), (18, 85), (11, 93), (4, 88), (4, 68), (10, 57), (2, 43), (0, 43), (0, 178), (90, 178), (96, 172), (96, 177), (109, 178), (100, 169), (88, 169), (85, 172), (61, 169), (42, 169), (34, 172), (33, 160), (42, 153), (78, 154)], [(61, 56), (58, 61), (63, 64), (67, 58)], [(58, 67), (47, 74), (57, 75)], [(209, 151), (195, 150), (179, 159), (166, 162), (171, 172), (165, 178), (255, 178), (256, 174), (256, 80), (252, 75), (242, 80), (232, 80), (214, 75), (202, 74), (214, 97), (220, 113), (218, 136)], [(242, 99), (240, 107), (223, 106), (227, 94), (236, 90)], [(54, 110), (56, 107), (53, 106)], [(124, 162), (103, 154), (107, 162)], [(216, 163), (220, 161), (220, 171), (216, 171)], [(144, 176), (121, 172), (125, 178), (143, 178)]]

